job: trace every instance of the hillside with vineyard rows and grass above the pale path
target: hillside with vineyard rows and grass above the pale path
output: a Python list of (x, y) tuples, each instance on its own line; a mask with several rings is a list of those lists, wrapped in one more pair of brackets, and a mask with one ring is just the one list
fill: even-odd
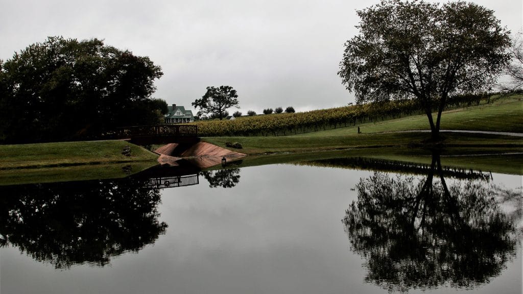
[[(462, 105), (479, 104), (475, 107), (455, 108), (456, 106), (454, 106), (452, 110), (445, 112), (442, 128), (523, 132), (523, 122), (518, 119), (522, 112), (522, 97), (522, 95), (513, 95), (462, 103)], [(236, 120), (206, 120), (193, 124), (198, 126), (198, 132), (203, 137), (277, 136), (369, 125), (374, 127), (373, 130), (367, 130), (368, 132), (390, 131), (390, 126), (383, 126), (383, 119), (386, 120), (386, 123), (391, 120), (396, 121), (396, 125), (392, 127), (396, 130), (428, 129), (428, 120), (425, 115), (413, 115), (419, 113), (418, 109), (419, 107), (411, 100), (389, 101), (295, 114), (260, 115), (241, 117)], [(464, 115), (463, 111), (466, 111), (467, 114)], [(436, 114), (433, 116), (435, 117)], [(502, 116), (503, 119), (499, 119)], [(403, 117), (403, 119), (393, 119), (397, 117)], [(366, 123), (369, 121), (371, 123)]]

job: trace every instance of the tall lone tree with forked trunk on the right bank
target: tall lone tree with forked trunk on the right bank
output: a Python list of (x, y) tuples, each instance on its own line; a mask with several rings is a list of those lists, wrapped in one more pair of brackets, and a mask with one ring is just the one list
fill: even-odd
[(360, 32), (345, 43), (338, 72), (343, 84), (358, 103), (416, 100), (434, 140), (449, 95), (485, 91), (509, 60), (509, 32), (474, 3), (382, 0), (357, 13)]

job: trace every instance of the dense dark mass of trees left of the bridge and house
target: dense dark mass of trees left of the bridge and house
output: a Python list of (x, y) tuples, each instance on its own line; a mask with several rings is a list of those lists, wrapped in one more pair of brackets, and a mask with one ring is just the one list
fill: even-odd
[(156, 121), (151, 95), (162, 75), (149, 58), (98, 39), (31, 44), (0, 64), (0, 141), (80, 139)]

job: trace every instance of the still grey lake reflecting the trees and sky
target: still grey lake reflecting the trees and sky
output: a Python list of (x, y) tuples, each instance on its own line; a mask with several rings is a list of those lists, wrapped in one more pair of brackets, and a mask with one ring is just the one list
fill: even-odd
[(439, 155), (0, 186), (0, 292), (521, 293), (521, 186)]

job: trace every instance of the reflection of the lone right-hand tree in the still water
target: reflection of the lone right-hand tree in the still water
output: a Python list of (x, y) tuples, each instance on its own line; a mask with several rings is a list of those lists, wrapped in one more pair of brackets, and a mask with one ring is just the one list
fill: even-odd
[(381, 172), (360, 179), (358, 200), (342, 221), (351, 247), (366, 260), (367, 282), (390, 291), (474, 288), (515, 256), (521, 209), (507, 213), (499, 201), (520, 202), (521, 195), (486, 178), (448, 185), (442, 174), (434, 153), (424, 181)]

